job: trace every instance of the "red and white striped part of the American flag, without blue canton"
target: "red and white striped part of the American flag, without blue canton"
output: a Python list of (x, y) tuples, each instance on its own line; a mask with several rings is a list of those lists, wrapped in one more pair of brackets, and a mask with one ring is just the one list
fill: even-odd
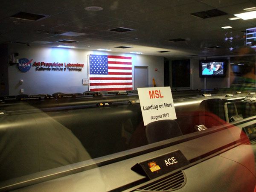
[(108, 55), (108, 75), (90, 75), (90, 91), (132, 90), (131, 57)]

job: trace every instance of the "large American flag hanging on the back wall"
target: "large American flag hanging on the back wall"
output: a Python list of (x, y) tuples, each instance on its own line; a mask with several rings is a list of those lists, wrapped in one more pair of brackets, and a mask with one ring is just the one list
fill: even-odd
[(89, 90), (132, 90), (131, 57), (89, 56)]

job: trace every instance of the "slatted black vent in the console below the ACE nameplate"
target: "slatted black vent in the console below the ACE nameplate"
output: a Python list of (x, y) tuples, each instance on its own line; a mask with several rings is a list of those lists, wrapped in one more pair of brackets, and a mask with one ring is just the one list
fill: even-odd
[(169, 192), (180, 189), (186, 184), (186, 176), (183, 171), (169, 175), (161, 180), (143, 186), (136, 191), (143, 192)]

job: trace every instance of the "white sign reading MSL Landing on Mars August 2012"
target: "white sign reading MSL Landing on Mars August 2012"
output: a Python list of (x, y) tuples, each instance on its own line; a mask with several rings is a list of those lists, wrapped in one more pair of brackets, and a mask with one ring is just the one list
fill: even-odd
[(171, 87), (138, 88), (144, 125), (163, 119), (177, 119)]

